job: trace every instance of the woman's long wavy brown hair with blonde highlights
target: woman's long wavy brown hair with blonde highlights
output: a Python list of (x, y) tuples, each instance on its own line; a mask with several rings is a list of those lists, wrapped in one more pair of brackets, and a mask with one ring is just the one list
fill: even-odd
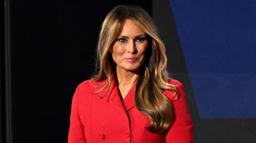
[(173, 95), (175, 99), (178, 98), (178, 92), (174, 85), (168, 83), (164, 43), (158, 36), (157, 27), (152, 18), (141, 7), (118, 5), (108, 13), (101, 25), (97, 45), (96, 73), (92, 77), (96, 83), (107, 80), (103, 85), (92, 84), (92, 86), (99, 88), (97, 92), (101, 92), (104, 88), (107, 88), (108, 92), (110, 89), (110, 75), (115, 67), (110, 52), (122, 31), (125, 19), (132, 20), (149, 37), (148, 53), (141, 68), (143, 72), (140, 72), (136, 83), (135, 105), (140, 112), (151, 119), (151, 124), (147, 127), (150, 132), (163, 132), (170, 128), (174, 119), (172, 104), (164, 95), (164, 91), (175, 91)]

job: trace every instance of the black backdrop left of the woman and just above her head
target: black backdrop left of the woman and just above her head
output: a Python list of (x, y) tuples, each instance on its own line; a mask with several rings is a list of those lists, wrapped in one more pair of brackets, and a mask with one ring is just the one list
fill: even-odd
[(73, 93), (92, 75), (101, 23), (119, 4), (152, 11), (148, 0), (1, 1), (3, 143), (67, 142)]

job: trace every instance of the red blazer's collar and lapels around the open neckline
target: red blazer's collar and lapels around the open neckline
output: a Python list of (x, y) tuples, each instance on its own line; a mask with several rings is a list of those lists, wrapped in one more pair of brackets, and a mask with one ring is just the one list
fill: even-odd
[[(103, 100), (107, 101), (110, 105), (123, 110), (123, 107), (125, 107), (125, 110), (128, 111), (135, 107), (135, 87), (136, 83), (134, 83), (133, 87), (131, 87), (130, 91), (125, 96), (124, 100), (121, 98), (121, 95), (118, 91), (118, 86), (116, 84), (116, 78), (114, 74), (111, 74), (111, 85), (110, 89), (107, 93), (107, 95), (103, 98)], [(103, 80), (102, 83), (105, 83), (107, 79)], [(108, 87), (105, 87), (101, 92), (99, 92), (99, 96), (102, 97), (107, 92)]]

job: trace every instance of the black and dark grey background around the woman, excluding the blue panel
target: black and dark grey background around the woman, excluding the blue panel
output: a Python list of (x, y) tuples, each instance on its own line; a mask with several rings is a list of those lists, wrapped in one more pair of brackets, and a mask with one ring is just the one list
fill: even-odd
[(185, 86), (195, 143), (256, 142), (255, 118), (200, 118), (168, 0), (1, 0), (0, 142), (67, 142), (73, 93), (93, 74), (100, 26), (120, 4), (140, 5), (159, 27), (168, 71)]

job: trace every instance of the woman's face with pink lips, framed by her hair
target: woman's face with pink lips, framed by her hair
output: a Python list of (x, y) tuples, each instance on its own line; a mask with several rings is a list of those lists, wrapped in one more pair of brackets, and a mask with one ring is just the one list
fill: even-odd
[(132, 20), (126, 19), (123, 30), (113, 45), (112, 58), (116, 70), (139, 71), (148, 49), (148, 38)]

